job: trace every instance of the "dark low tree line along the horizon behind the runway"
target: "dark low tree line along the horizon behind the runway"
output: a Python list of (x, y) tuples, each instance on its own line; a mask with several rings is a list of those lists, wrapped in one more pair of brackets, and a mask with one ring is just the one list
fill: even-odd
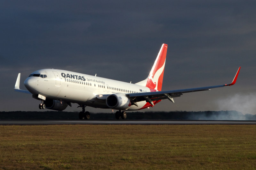
[[(78, 112), (0, 112), (0, 120), (79, 120)], [(91, 113), (91, 120), (115, 120), (115, 113)], [(256, 120), (238, 111), (127, 112), (126, 120)]]

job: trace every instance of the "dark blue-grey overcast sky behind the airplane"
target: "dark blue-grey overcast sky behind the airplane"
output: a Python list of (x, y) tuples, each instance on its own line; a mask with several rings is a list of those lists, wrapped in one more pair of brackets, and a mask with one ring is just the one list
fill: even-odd
[[(144, 111), (255, 114), (255, 7), (255, 0), (0, 0), (0, 111), (39, 111), (39, 100), (14, 92), (18, 73), (21, 89), (31, 72), (44, 68), (136, 83), (166, 43), (162, 90), (227, 84), (239, 66), (240, 74), (234, 86), (184, 94)], [(77, 106), (65, 111), (80, 111)]]

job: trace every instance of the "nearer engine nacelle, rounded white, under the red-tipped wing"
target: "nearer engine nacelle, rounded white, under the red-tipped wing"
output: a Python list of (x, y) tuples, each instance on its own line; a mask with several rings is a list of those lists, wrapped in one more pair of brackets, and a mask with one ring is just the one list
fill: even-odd
[(131, 100), (123, 93), (110, 94), (106, 99), (109, 108), (125, 110), (131, 106)]

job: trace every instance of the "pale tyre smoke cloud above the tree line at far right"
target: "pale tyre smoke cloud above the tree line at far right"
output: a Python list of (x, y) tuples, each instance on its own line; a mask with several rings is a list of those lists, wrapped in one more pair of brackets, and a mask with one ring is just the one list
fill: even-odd
[(256, 115), (256, 93), (238, 93), (216, 101), (216, 105), (219, 110), (236, 110), (244, 115)]

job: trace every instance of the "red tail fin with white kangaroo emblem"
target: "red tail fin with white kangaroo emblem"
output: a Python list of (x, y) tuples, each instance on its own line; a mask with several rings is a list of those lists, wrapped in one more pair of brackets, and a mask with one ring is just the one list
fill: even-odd
[(162, 45), (157, 55), (156, 61), (148, 75), (146, 86), (152, 90), (153, 89), (158, 91), (162, 90), (167, 47), (168, 47), (167, 44)]

